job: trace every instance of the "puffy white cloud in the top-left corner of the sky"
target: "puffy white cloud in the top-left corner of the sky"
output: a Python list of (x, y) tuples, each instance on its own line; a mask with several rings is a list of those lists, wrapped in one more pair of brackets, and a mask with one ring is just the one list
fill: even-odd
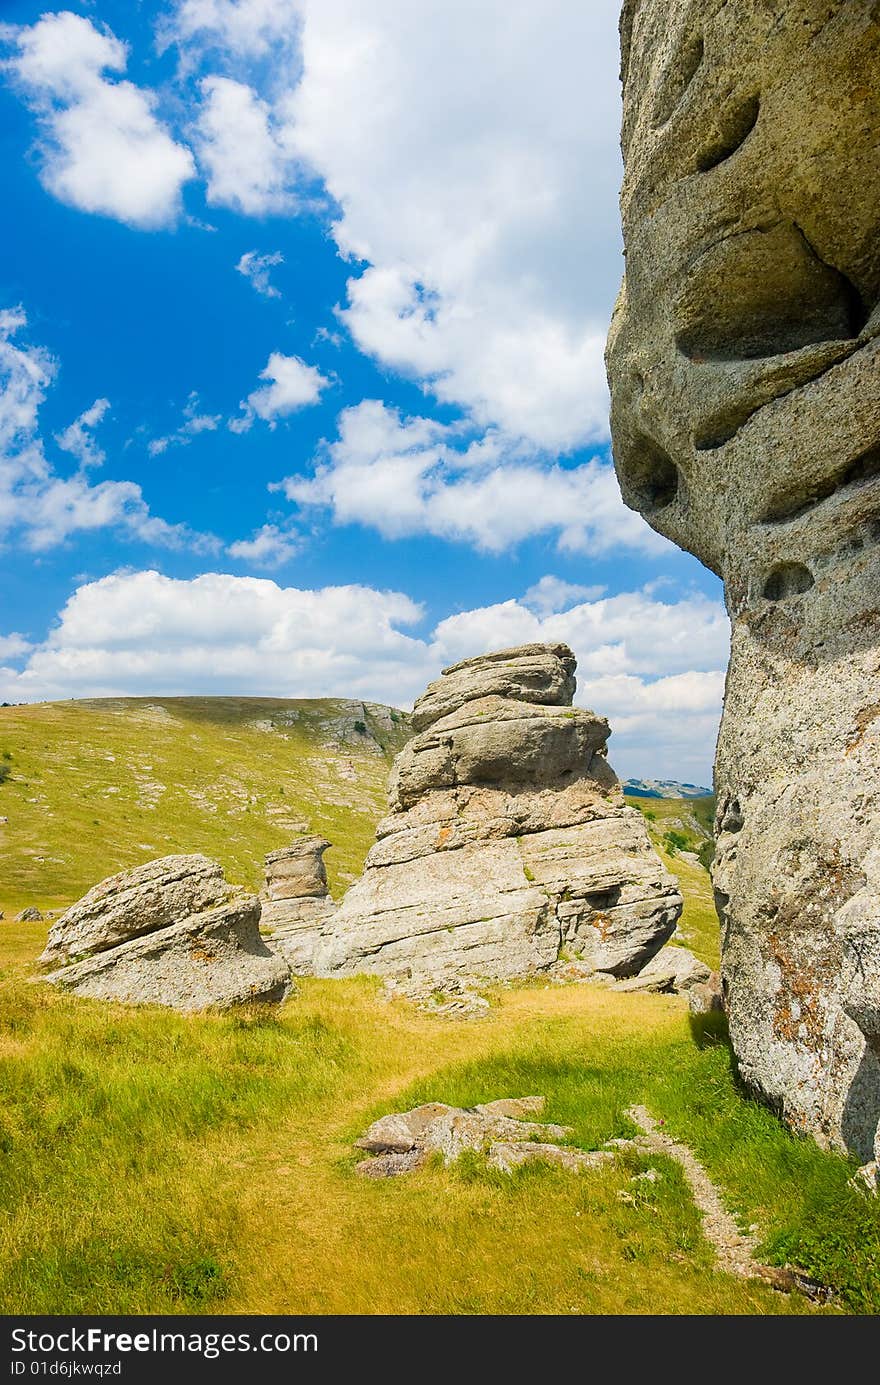
[(157, 118), (154, 93), (104, 76), (125, 72), (126, 44), (69, 11), (6, 25), (0, 37), (18, 50), (3, 66), (40, 122), (46, 190), (130, 226), (173, 223), (193, 155)]

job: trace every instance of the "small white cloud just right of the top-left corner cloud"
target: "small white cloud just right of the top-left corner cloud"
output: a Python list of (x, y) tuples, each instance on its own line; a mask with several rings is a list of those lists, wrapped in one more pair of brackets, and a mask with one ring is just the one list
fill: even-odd
[(201, 93), (197, 143), (208, 202), (245, 216), (292, 211), (298, 163), (267, 102), (231, 78), (205, 78)]

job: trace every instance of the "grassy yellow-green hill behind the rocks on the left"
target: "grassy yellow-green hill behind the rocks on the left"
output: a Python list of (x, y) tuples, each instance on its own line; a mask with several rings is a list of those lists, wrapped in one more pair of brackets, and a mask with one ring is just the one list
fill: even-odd
[(266, 852), (330, 842), (340, 895), (385, 812), (409, 716), (341, 698), (96, 698), (0, 708), (0, 909), (54, 909), (114, 871), (205, 852), (259, 885)]

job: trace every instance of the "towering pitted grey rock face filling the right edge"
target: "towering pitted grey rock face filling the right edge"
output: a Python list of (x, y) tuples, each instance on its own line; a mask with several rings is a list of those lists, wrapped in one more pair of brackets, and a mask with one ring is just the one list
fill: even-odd
[(743, 1078), (880, 1118), (880, 14), (628, 0), (624, 499), (725, 582), (714, 867)]

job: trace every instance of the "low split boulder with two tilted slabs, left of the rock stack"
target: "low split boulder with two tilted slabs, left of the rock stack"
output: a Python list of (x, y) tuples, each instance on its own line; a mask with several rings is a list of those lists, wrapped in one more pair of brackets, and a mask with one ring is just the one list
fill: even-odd
[(259, 900), (230, 886), (216, 861), (165, 856), (101, 881), (53, 924), (40, 961), (58, 970), (43, 979), (175, 1010), (281, 1000), (290, 968), (259, 920)]

